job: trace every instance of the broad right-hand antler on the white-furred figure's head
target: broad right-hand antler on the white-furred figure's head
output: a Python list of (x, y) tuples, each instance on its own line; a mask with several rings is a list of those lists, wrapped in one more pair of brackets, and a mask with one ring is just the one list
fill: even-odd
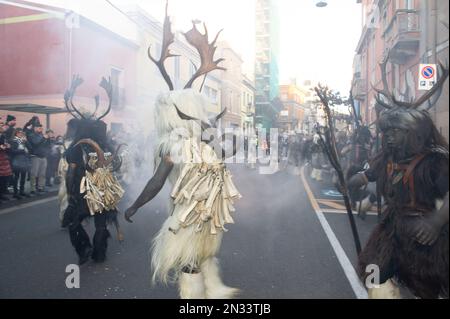
[(219, 66), (219, 63), (224, 61), (225, 59), (218, 59), (214, 61), (214, 53), (217, 49), (217, 47), (215, 46), (216, 41), (222, 30), (217, 33), (214, 41), (210, 44), (208, 41), (208, 29), (206, 28), (206, 25), (203, 24), (203, 27), (205, 28), (205, 34), (201, 34), (197, 30), (195, 22), (192, 22), (192, 25), (192, 29), (184, 33), (184, 36), (186, 37), (188, 43), (195, 47), (200, 54), (201, 65), (189, 80), (189, 82), (186, 84), (186, 86), (184, 87), (185, 89), (192, 88), (194, 81), (202, 75), (206, 75), (214, 70), (226, 70), (225, 68)]

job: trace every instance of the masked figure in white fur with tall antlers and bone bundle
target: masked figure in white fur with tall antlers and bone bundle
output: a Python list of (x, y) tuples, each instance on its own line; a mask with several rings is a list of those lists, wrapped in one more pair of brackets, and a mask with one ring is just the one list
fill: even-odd
[[(150, 55), (171, 90), (156, 101), (156, 172), (126, 211), (125, 218), (131, 222), (130, 217), (152, 200), (169, 179), (173, 186), (170, 216), (153, 241), (153, 281), (178, 280), (183, 299), (232, 298), (238, 290), (223, 284), (215, 257), (223, 232), (227, 231), (224, 226), (234, 222), (233, 201), (240, 198), (224, 164), (227, 153), (212, 131), (225, 111), (208, 119), (208, 100), (191, 88), (195, 79), (216, 69), (223, 70), (218, 66), (222, 59), (213, 60), (217, 37), (209, 44), (207, 32), (202, 35), (195, 24), (184, 35), (199, 51), (202, 64), (184, 90), (173, 91), (164, 68), (164, 60), (172, 56), (168, 47), (174, 40), (166, 7), (161, 59), (156, 61)], [(206, 135), (208, 140), (204, 139)]]

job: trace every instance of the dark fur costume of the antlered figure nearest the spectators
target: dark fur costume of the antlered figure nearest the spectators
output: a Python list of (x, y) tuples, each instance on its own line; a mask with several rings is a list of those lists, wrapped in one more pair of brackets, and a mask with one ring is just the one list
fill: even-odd
[(110, 237), (107, 224), (108, 221), (114, 221), (117, 218), (117, 211), (112, 210), (95, 214), (95, 235), (93, 245), (91, 245), (89, 236), (81, 224), (85, 218), (91, 215), (84, 194), (80, 194), (80, 183), (86, 170), (90, 169), (87, 167), (86, 155), (94, 152), (94, 150), (90, 146), (76, 144), (82, 139), (90, 138), (97, 142), (105, 152), (111, 151), (106, 138), (106, 124), (97, 120), (73, 119), (68, 126), (73, 129), (75, 137), (66, 152), (66, 159), (69, 166), (70, 164), (76, 164), (76, 168), (69, 168), (69, 171), (73, 171), (67, 174), (66, 185), (69, 194), (69, 206), (64, 214), (63, 227), (69, 228), (70, 240), (80, 257), (80, 263), (87, 260), (91, 251), (92, 259), (102, 262), (106, 257), (107, 240)]

